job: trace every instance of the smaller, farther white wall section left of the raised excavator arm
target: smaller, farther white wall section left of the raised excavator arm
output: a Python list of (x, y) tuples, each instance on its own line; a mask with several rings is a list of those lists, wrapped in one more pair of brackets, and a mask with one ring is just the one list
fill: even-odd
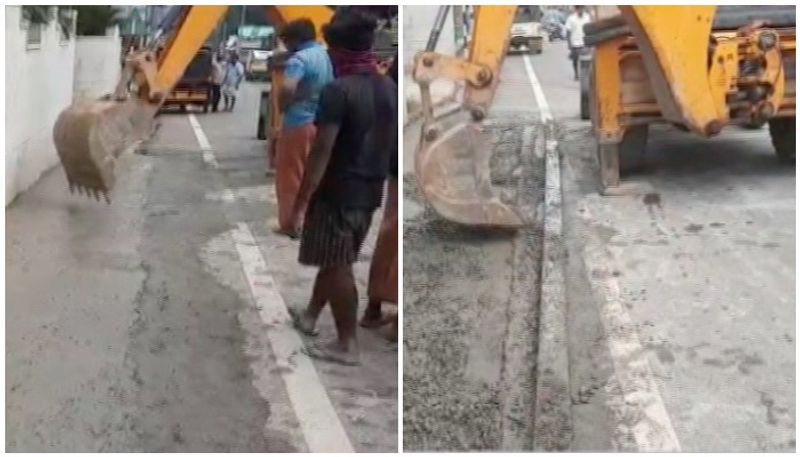
[(75, 43), (74, 99), (98, 98), (114, 91), (121, 67), (119, 29), (107, 36), (81, 36)]

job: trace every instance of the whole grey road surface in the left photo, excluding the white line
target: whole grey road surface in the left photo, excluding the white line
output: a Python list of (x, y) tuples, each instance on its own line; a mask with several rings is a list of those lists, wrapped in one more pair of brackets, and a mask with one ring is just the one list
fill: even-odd
[[(197, 115), (218, 171), (187, 117), (164, 114), (147, 155), (121, 161), (111, 206), (69, 195), (56, 168), (6, 209), (7, 450), (305, 449), (230, 235), (247, 223), (284, 301), (305, 305), (313, 271), (270, 231), (259, 89)], [(328, 312), (320, 329), (335, 335)], [(354, 448), (394, 451), (396, 346), (359, 337), (363, 366), (315, 366)]]

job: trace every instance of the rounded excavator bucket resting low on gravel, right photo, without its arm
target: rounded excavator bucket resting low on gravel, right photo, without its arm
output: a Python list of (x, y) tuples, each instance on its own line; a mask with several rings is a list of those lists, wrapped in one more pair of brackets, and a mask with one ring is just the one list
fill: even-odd
[(483, 227), (519, 228), (524, 221), (494, 195), (491, 148), (480, 125), (460, 122), (420, 140), (414, 165), (425, 199), (445, 219)]

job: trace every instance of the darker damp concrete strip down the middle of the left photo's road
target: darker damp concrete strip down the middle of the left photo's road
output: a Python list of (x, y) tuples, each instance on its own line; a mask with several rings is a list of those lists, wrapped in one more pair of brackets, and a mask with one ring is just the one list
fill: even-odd
[[(147, 414), (131, 413), (139, 436), (136, 448), (294, 451), (285, 435), (264, 433), (271, 408), (250, 381), (242, 350), (246, 334), (237, 318), (247, 304), (215, 281), (197, 255), (207, 234), (227, 227), (218, 204), (203, 198), (205, 183), (193, 178), (202, 174), (202, 165), (178, 157), (158, 160), (147, 207), (160, 211), (150, 212), (144, 223), (141, 256), (147, 259), (148, 275), (137, 297), (126, 352), (138, 386), (136, 403), (148, 405)], [(182, 183), (180, 195), (165, 189), (176, 181)]]

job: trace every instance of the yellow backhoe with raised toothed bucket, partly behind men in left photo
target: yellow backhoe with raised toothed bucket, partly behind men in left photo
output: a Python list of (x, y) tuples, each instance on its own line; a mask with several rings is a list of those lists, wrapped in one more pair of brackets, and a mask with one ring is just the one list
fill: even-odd
[[(152, 37), (149, 47), (128, 56), (113, 94), (95, 101), (77, 101), (56, 120), (53, 139), (64, 166), (70, 191), (77, 190), (110, 202), (115, 183), (114, 164), (119, 155), (147, 139), (166, 96), (184, 74), (197, 51), (225, 16), (228, 6), (172, 7)], [(329, 6), (265, 6), (270, 22), (280, 28), (295, 19), (308, 18), (322, 37), (321, 28), (334, 15)], [(396, 7), (369, 8), (379, 17), (396, 14)], [(157, 51), (160, 51), (157, 53)], [(273, 85), (282, 71), (275, 70)], [(133, 91), (129, 87), (134, 87)], [(270, 97), (270, 130), (281, 125), (278, 91)]]

